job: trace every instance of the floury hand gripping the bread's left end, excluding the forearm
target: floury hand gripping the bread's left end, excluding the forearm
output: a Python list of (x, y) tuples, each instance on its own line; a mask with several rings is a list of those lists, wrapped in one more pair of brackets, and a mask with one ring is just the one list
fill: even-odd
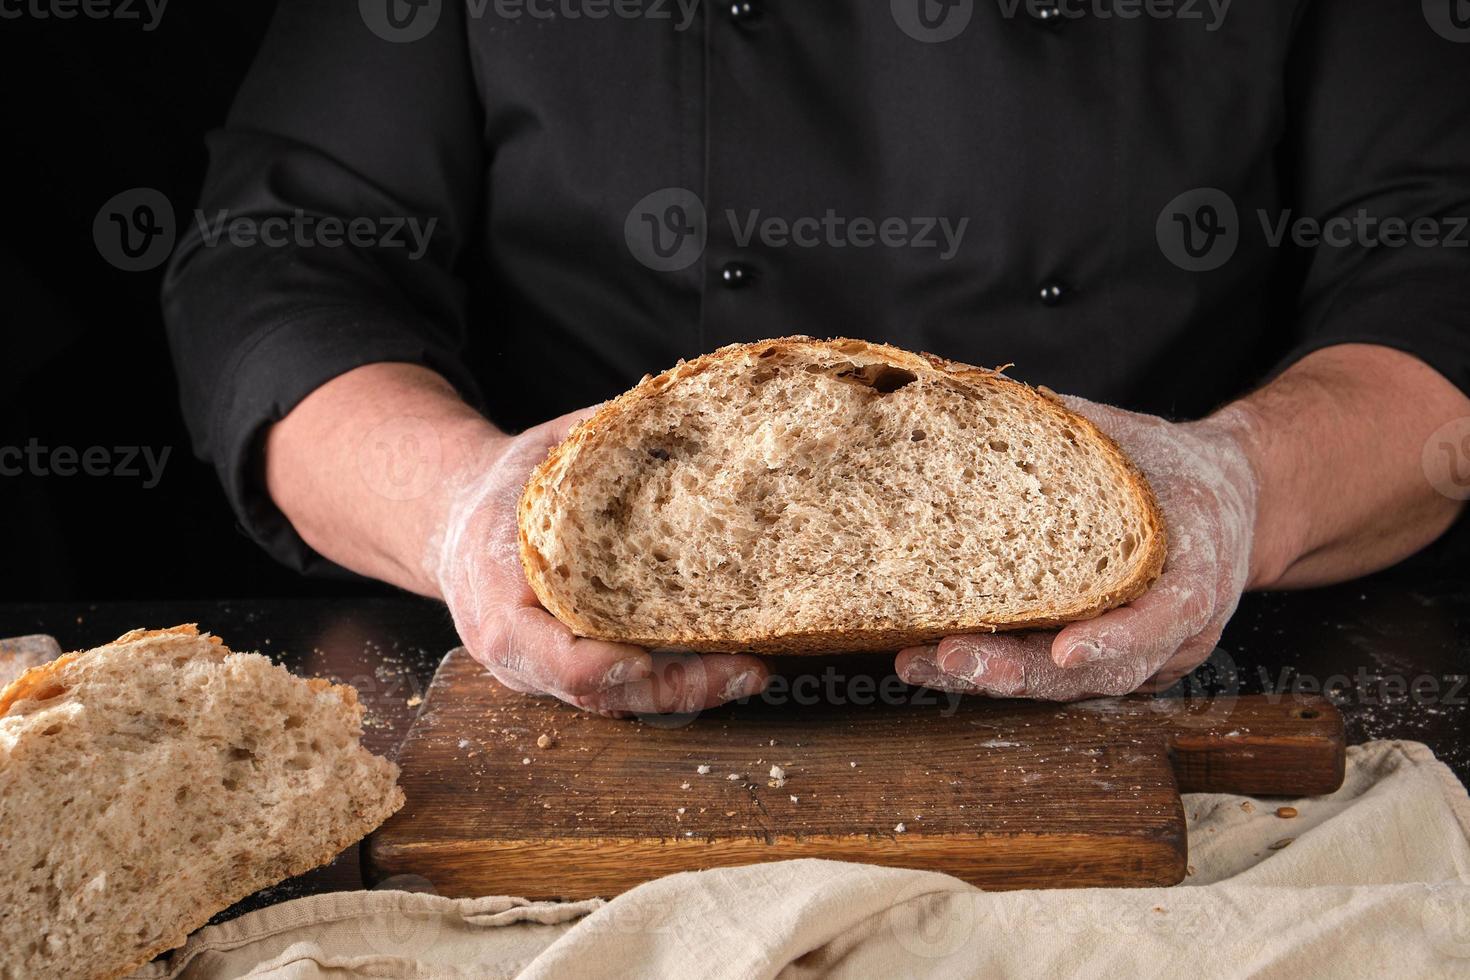
[(520, 566), (516, 502), (531, 472), (587, 414), (501, 436), (447, 494), (426, 567), (460, 639), (503, 685), (603, 714), (688, 713), (759, 693), (766, 669), (756, 657), (650, 654), (584, 639), (541, 608)]

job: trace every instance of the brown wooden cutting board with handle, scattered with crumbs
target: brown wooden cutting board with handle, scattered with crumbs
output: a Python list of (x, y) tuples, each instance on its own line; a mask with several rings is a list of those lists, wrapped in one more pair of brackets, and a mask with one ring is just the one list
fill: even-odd
[(400, 751), (407, 804), (369, 840), (369, 879), (581, 899), (835, 858), (989, 889), (1173, 884), (1180, 792), (1342, 783), (1342, 718), (1320, 698), (991, 701), (864, 673), (879, 661), (806, 658), (781, 704), (632, 721), (510, 692), (454, 651)]

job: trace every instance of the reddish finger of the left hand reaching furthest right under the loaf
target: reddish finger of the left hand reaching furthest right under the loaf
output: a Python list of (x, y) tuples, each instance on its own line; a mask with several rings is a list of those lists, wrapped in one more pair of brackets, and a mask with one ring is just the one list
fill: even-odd
[(651, 676), (581, 699), (582, 707), (639, 714), (686, 714), (766, 689), (769, 669), (744, 654), (654, 654)]

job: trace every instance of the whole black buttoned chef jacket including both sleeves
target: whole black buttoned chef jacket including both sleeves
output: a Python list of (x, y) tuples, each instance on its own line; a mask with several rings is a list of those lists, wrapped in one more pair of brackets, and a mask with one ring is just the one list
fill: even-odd
[(1438, 1), (281, 0), (163, 288), (197, 451), (304, 567), (262, 435), (372, 361), (507, 429), (784, 334), (1172, 417), (1341, 342), (1470, 389)]

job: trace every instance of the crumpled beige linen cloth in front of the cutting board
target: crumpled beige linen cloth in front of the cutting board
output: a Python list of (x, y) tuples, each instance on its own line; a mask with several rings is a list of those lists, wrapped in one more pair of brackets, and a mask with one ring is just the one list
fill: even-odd
[(781, 861), (610, 902), (320, 895), (204, 929), (138, 979), (1470, 977), (1470, 801), (1417, 742), (1348, 749), (1330, 796), (1185, 796), (1176, 887), (980, 892)]

